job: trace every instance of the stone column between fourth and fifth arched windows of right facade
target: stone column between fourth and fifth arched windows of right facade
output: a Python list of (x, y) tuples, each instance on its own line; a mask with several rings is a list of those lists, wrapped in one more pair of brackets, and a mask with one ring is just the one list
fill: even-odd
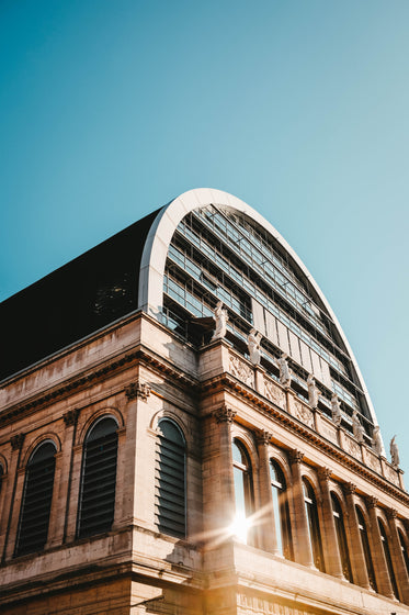
[(344, 493), (348, 506), (348, 527), (346, 538), (349, 540), (350, 559), (352, 568), (352, 579), (356, 585), (371, 589), (370, 578), (366, 569), (365, 555), (362, 547), (361, 532), (357, 523), (354, 493), (356, 485), (351, 482), (344, 485)]

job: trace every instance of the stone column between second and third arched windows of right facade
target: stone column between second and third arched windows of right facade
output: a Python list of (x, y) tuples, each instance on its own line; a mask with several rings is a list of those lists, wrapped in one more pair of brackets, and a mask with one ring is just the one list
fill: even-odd
[(304, 452), (293, 450), (289, 455), (293, 477), (293, 508), (295, 516), (294, 556), (295, 561), (314, 568), (314, 557), (309, 538), (308, 518), (305, 510), (304, 490), (300, 465)]

